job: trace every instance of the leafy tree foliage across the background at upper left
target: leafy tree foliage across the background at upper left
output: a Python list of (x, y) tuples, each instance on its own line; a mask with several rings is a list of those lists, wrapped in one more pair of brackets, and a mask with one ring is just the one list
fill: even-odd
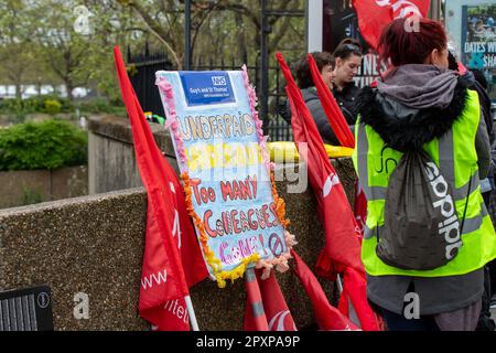
[[(305, 0), (267, 1), (269, 10), (303, 11)], [(85, 6), (89, 32), (78, 33), (75, 9)], [(184, 0), (7, 0), (0, 1), (0, 84), (84, 86), (119, 99), (112, 47), (141, 51), (144, 43), (165, 51), (182, 68)], [(270, 15), (269, 55), (289, 60), (304, 52), (304, 18)], [(260, 1), (192, 1), (193, 66), (260, 56)]]

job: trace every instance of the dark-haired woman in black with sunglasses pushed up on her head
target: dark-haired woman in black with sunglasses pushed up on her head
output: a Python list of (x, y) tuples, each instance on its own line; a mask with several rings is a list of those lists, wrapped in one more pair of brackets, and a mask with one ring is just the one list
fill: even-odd
[(362, 45), (347, 38), (341, 41), (333, 53), (335, 61), (333, 96), (349, 125), (356, 121), (356, 98), (360, 88), (355, 85), (354, 77), (362, 65)]

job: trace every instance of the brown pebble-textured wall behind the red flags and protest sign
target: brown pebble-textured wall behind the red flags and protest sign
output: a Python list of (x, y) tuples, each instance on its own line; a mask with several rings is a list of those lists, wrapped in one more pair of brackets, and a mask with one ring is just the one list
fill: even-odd
[[(293, 168), (279, 165), (277, 172)], [(339, 168), (345, 179), (349, 170)], [(288, 193), (288, 184), (285, 179), (277, 182), (289, 229), (299, 242), (295, 250), (313, 268), (324, 245), (316, 202), (310, 189)], [(148, 330), (138, 315), (145, 212), (141, 188), (1, 210), (0, 290), (48, 285), (55, 330)], [(298, 328), (311, 327), (313, 310), (299, 280), (290, 271), (277, 277)], [(321, 282), (332, 298), (332, 284)], [(89, 296), (89, 320), (73, 315), (77, 292)], [(201, 329), (242, 329), (242, 280), (218, 289), (206, 279), (192, 288), (191, 297)]]

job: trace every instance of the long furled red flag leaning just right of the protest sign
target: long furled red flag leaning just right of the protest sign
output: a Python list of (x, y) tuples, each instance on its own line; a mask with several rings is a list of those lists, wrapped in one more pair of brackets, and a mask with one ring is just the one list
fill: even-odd
[[(349, 266), (358, 271), (364, 271), (360, 259), (359, 229), (343, 185), (328, 160), (315, 121), (310, 115), (284, 58), (280, 53), (277, 53), (276, 56), (288, 82), (285, 89), (293, 114), (291, 126), (294, 142), (299, 148), (300, 156), (306, 161), (310, 184), (315, 192), (319, 213), (324, 223), (326, 244), (319, 263), (326, 261), (328, 265), (325, 266), (326, 270), (341, 271)], [(334, 263), (333, 266), (330, 266), (330, 260)]]

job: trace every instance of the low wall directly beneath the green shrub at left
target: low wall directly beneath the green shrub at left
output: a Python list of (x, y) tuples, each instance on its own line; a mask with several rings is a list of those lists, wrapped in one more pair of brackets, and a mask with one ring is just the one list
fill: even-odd
[(0, 172), (0, 208), (88, 194), (86, 165)]

